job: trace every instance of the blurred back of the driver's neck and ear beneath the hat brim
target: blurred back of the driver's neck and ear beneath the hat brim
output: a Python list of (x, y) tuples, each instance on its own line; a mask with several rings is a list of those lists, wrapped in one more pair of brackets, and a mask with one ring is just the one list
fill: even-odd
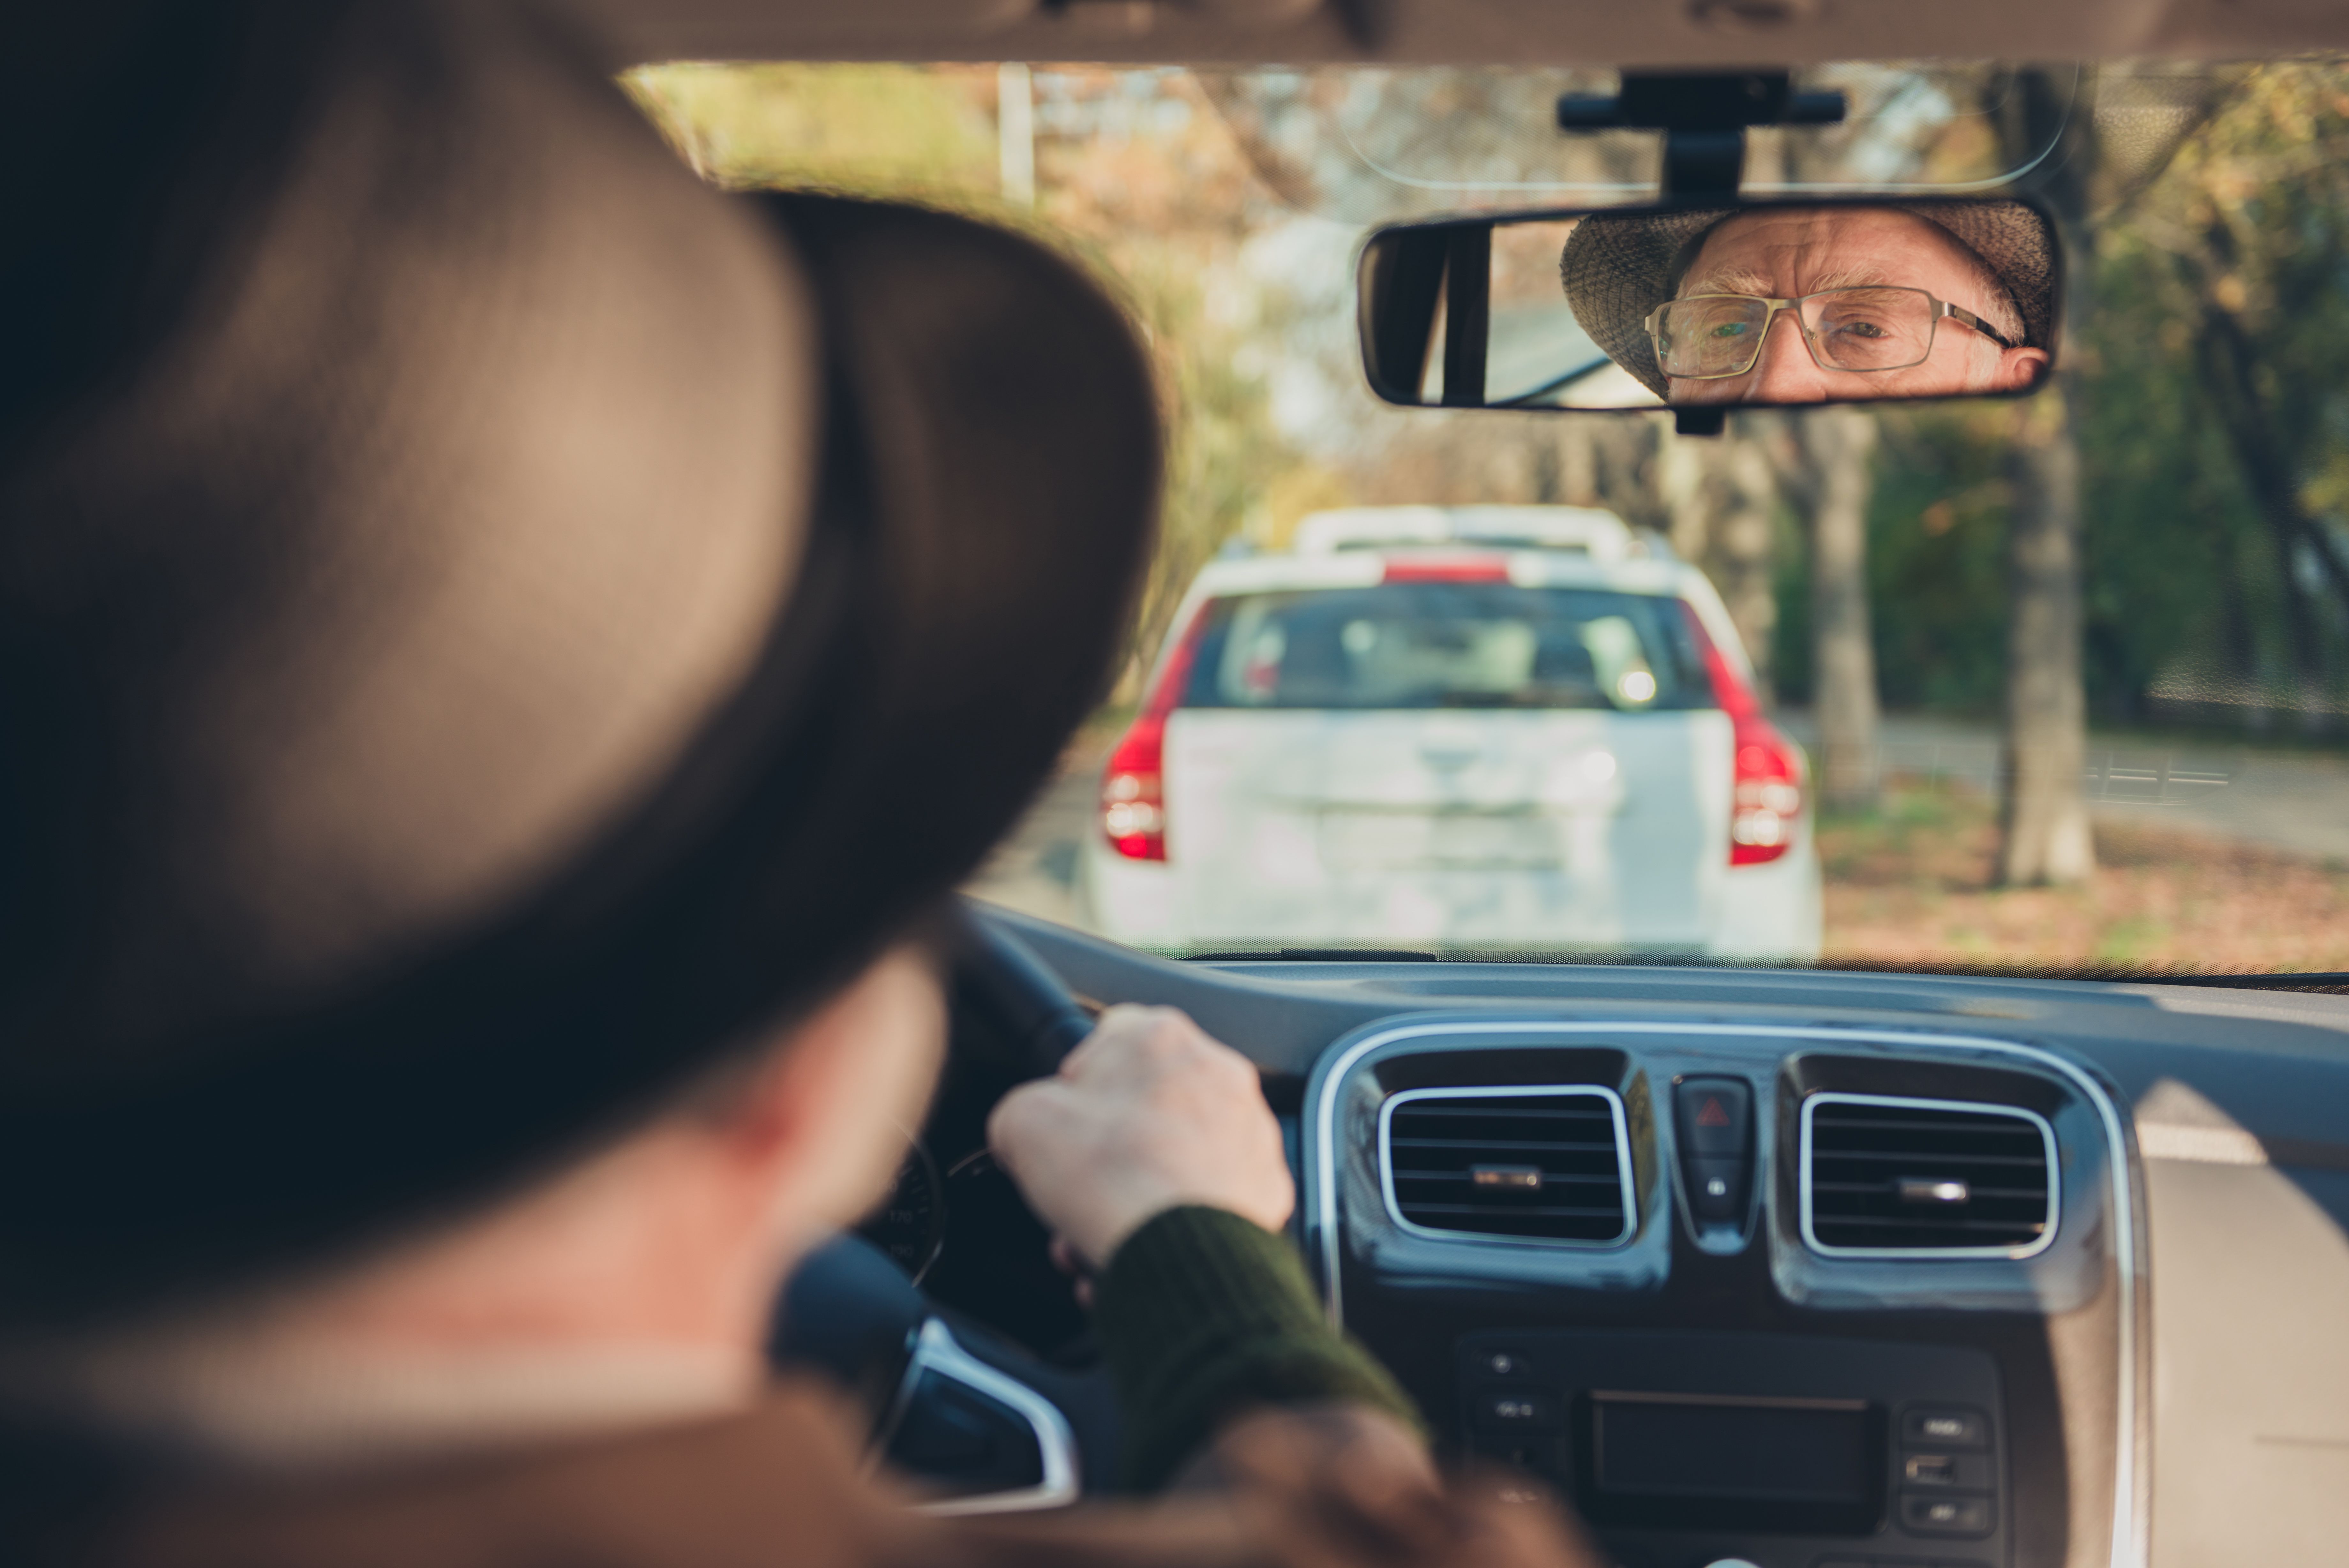
[(653, 1131), (327, 1279), (0, 1349), (0, 1403), (270, 1472), (721, 1415), (766, 1385), (799, 1251)]

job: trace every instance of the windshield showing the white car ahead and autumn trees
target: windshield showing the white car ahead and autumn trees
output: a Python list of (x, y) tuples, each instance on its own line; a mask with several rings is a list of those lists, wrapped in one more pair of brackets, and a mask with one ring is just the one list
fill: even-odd
[(1381, 404), (1365, 226), (1644, 200), (1536, 113), (1600, 75), (632, 73), (709, 179), (1045, 235), (1158, 360), (1130, 656), (972, 889), (1170, 954), (2349, 971), (2349, 68), (1811, 73), (1858, 113), (1750, 188), (2048, 212), (2032, 397)]

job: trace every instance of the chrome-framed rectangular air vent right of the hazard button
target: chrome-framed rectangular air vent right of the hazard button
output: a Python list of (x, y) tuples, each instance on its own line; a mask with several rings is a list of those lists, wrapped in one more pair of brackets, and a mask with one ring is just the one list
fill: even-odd
[(2013, 1105), (1811, 1095), (1802, 1239), (1828, 1255), (2030, 1258), (2055, 1241), (2055, 1128)]

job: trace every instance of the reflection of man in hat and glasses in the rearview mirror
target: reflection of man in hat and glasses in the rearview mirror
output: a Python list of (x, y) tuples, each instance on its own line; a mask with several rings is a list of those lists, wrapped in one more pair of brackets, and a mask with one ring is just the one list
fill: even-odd
[(2053, 240), (2020, 202), (1590, 216), (1583, 329), (1672, 404), (2018, 393), (2048, 369)]

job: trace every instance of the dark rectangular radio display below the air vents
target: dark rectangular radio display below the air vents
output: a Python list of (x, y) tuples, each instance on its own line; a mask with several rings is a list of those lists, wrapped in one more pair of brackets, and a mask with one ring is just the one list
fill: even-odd
[(1867, 1535), (1882, 1519), (1879, 1406), (1621, 1392), (1576, 1403), (1576, 1495), (1595, 1523)]

